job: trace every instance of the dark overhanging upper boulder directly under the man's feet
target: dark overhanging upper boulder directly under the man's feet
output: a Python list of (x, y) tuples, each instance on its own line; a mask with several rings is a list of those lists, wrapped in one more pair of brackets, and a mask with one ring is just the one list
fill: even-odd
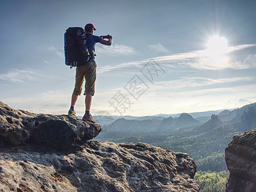
[(92, 140), (101, 131), (98, 124), (76, 116), (45, 115), (15, 110), (0, 102), (0, 146), (35, 143), (40, 147), (67, 150)]

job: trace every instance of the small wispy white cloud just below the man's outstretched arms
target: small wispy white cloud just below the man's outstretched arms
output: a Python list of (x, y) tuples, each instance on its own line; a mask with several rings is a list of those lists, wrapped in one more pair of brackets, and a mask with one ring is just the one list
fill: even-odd
[(133, 47), (129, 47), (127, 45), (118, 45), (118, 44), (111, 45), (111, 46), (101, 45), (100, 47), (97, 47), (97, 52), (100, 52), (102, 54), (109, 54), (111, 56), (135, 54)]

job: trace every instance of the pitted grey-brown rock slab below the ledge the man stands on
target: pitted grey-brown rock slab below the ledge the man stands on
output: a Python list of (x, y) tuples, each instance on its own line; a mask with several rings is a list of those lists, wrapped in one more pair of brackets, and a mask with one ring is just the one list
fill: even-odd
[(67, 152), (0, 149), (0, 191), (199, 191), (188, 154), (145, 143), (88, 141)]

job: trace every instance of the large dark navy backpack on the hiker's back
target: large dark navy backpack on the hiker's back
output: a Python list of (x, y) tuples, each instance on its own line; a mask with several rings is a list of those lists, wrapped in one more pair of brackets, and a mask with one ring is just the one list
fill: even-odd
[(90, 59), (83, 28), (68, 28), (64, 34), (65, 64), (70, 68), (84, 65)]

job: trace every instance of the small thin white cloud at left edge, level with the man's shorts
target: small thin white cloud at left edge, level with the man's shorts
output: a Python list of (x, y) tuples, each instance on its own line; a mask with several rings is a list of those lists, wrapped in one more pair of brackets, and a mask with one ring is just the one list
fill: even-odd
[(40, 74), (28, 70), (19, 70), (17, 68), (10, 70), (6, 74), (0, 74), (0, 79), (12, 81), (13, 83), (24, 83), (28, 80), (35, 80)]

